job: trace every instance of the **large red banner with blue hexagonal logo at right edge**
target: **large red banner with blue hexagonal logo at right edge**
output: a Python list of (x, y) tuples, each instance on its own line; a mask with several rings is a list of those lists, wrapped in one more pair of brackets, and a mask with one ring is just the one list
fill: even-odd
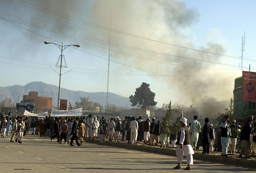
[(256, 73), (243, 71), (243, 101), (256, 102)]

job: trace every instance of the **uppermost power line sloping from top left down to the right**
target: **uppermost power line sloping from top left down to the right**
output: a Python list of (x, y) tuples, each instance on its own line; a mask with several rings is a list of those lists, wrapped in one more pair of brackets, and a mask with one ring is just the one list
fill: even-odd
[[(9, 0), (9, 1), (12, 1), (12, 0)], [(21, 0), (19, 0), (19, 1), (21, 1)], [(17, 4), (21, 4), (21, 3), (15, 2), (15, 1), (12, 1), (12, 2), (17, 3)], [(98, 25), (98, 24), (95, 24), (95, 23), (92, 23), (92, 22), (88, 22), (88, 21), (85, 21), (85, 20), (82, 20), (82, 19), (79, 19), (79, 18), (74, 18), (74, 17), (68, 16), (68, 15), (65, 15), (65, 14), (62, 14), (62, 13), (59, 13), (59, 12), (56, 12), (56, 11), (52, 11), (52, 10), (49, 10), (49, 9), (37, 6), (35, 4), (31, 4), (31, 3), (25, 2), (25, 1), (21, 1), (21, 2), (26, 3), (26, 4), (30, 4), (30, 5), (39, 7), (39, 8), (42, 8), (42, 9), (47, 10), (47, 11), (51, 11), (51, 12), (57, 13), (57, 14), (60, 14), (60, 15), (63, 15), (63, 16), (66, 16), (66, 17), (60, 16), (60, 15), (57, 15), (57, 14), (53, 14), (53, 13), (50, 13), (50, 12), (47, 12), (47, 11), (44, 11), (44, 10), (40, 10), (40, 9), (31, 7), (31, 6), (28, 6), (28, 5), (25, 5), (25, 4), (21, 4), (21, 5), (27, 6), (29, 8), (32, 8), (32, 9), (35, 9), (35, 10), (39, 10), (39, 11), (43, 11), (43, 12), (46, 12), (46, 13), (49, 13), (49, 14), (52, 14), (52, 15), (55, 15), (55, 16), (58, 16), (58, 17), (61, 17), (61, 18), (66, 18), (68, 20), (76, 21), (76, 22), (79, 22), (79, 23), (82, 23), (82, 24), (85, 24), (85, 25), (90, 25), (90, 26), (93, 26), (93, 27), (101, 28), (101, 29), (104, 29), (104, 30), (108, 30), (108, 31), (112, 31), (112, 32), (117, 32), (117, 33), (129, 35), (129, 36), (140, 38), (140, 39), (144, 39), (144, 40), (150, 40), (150, 41), (154, 41), (154, 42), (158, 42), (158, 43), (162, 43), (162, 44), (166, 44), (166, 45), (170, 45), (170, 46), (190, 49), (190, 50), (194, 50), (194, 51), (199, 51), (199, 52), (203, 52), (203, 53), (208, 53), (208, 54), (214, 54), (214, 55), (219, 55), (219, 56), (226, 56), (226, 57), (230, 57), (230, 58), (241, 59), (240, 57), (236, 57), (236, 56), (225, 55), (225, 54), (218, 54), (218, 53), (214, 53), (214, 52), (203, 51), (203, 50), (199, 50), (199, 49), (194, 49), (194, 48), (190, 48), (190, 47), (174, 45), (174, 44), (166, 43), (166, 42), (163, 42), (163, 41), (158, 41), (158, 40), (153, 40), (153, 39), (145, 38), (145, 37), (138, 36), (138, 35), (135, 35), (135, 34), (131, 34), (131, 33), (128, 33), (128, 32), (123, 32), (123, 31), (112, 29), (112, 28), (109, 28), (109, 27), (106, 27), (106, 26), (103, 26), (103, 25)], [(71, 18), (73, 18), (73, 19), (71, 19)], [(76, 20), (74, 20), (74, 19), (76, 19)], [(79, 20), (79, 21), (77, 21), (77, 20)], [(84, 23), (84, 22), (86, 22), (86, 23)], [(249, 61), (251, 61), (251, 60), (249, 60)]]

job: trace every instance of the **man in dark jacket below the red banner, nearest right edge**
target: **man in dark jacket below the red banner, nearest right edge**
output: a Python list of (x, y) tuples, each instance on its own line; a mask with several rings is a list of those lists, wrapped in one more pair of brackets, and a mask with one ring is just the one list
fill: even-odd
[(241, 131), (240, 136), (240, 146), (241, 146), (241, 152), (239, 157), (242, 157), (242, 155), (245, 156), (245, 158), (250, 158), (250, 150), (251, 146), (250, 143), (252, 141), (251, 134), (252, 134), (252, 123), (253, 123), (253, 116), (250, 115), (247, 119), (247, 121), (244, 124), (244, 127)]

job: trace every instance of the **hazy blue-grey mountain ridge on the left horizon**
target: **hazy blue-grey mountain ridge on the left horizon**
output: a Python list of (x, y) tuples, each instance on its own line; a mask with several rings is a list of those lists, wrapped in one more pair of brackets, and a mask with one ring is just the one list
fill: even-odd
[[(0, 87), (0, 101), (6, 97), (12, 98), (14, 103), (18, 103), (23, 100), (23, 95), (28, 95), (29, 91), (39, 92), (38, 96), (52, 97), (52, 105), (57, 105), (59, 87), (43, 82), (31, 82), (25, 86), (13, 85), (8, 87)], [(72, 91), (64, 88), (60, 89), (60, 98), (67, 99), (72, 105), (76, 101), (80, 101), (79, 97), (88, 97), (92, 102), (98, 102), (103, 107), (106, 105), (107, 93), (106, 92), (84, 92), (84, 91)], [(114, 93), (108, 93), (108, 104), (123, 106), (127, 108), (131, 107), (131, 102), (128, 97), (123, 97)]]

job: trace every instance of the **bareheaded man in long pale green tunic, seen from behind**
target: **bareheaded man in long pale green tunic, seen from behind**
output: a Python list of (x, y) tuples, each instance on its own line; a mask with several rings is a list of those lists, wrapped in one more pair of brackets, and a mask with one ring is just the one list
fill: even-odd
[(191, 123), (189, 128), (189, 134), (190, 134), (190, 140), (191, 140), (191, 146), (194, 147), (194, 150), (196, 149), (196, 144), (198, 141), (198, 135), (201, 132), (201, 125), (196, 120), (197, 116), (194, 116), (194, 121)]

